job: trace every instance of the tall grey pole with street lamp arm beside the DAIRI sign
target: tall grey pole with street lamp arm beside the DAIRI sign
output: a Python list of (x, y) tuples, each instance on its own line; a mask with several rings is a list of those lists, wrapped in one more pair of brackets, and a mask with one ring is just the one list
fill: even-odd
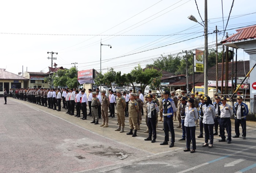
[[(204, 1), (204, 25), (199, 23), (196, 18), (191, 15), (189, 20), (199, 23), (204, 27), (204, 95), (208, 95), (208, 19), (207, 19), (207, 0)], [(194, 68), (194, 67), (193, 67)], [(193, 69), (194, 70), (194, 69)], [(216, 81), (218, 82), (218, 81)], [(195, 90), (195, 89), (194, 89)], [(218, 89), (217, 89), (218, 91)]]

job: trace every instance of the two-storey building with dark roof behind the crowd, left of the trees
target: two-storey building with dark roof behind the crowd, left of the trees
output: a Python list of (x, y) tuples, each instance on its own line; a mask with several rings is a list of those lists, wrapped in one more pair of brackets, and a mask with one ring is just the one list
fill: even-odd
[(49, 74), (43, 72), (24, 72), (22, 77), (28, 79), (24, 83), (24, 88), (49, 88), (49, 82), (45, 82), (44, 78)]

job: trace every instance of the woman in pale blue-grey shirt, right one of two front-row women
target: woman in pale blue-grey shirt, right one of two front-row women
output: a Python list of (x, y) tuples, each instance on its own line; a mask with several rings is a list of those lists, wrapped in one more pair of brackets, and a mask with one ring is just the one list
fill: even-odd
[[(203, 147), (208, 146), (211, 148), (213, 145), (213, 127), (214, 127), (214, 118), (216, 116), (215, 108), (212, 105), (211, 98), (209, 96), (204, 97), (203, 105), (203, 126), (204, 126), (204, 145)], [(208, 145), (208, 139), (210, 137), (210, 144)]]

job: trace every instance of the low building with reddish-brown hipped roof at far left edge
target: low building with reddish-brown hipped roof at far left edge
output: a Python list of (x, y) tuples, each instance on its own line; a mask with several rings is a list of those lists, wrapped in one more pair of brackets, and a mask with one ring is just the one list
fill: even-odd
[(0, 69), (0, 95), (3, 95), (4, 88), (6, 88), (8, 94), (10, 88), (24, 88), (26, 81), (28, 81), (28, 79), (22, 76), (7, 72), (5, 69)]

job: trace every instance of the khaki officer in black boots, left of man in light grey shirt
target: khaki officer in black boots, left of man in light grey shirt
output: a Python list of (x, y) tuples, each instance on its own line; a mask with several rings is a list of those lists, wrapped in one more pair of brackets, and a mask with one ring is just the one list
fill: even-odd
[[(139, 103), (135, 100), (135, 94), (131, 93), (130, 94), (130, 101), (129, 101), (129, 106), (128, 106), (128, 111), (129, 111), (129, 125), (130, 125), (130, 132), (127, 133), (127, 135), (132, 135), (132, 137), (137, 136), (137, 130), (138, 130), (138, 111), (139, 111)], [(134, 134), (133, 134), (133, 129)]]

